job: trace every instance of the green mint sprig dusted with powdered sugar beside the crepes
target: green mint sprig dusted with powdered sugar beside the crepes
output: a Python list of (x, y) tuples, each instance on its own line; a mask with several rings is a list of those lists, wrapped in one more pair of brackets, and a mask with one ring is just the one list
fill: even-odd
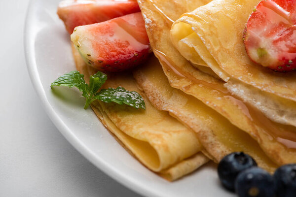
[(84, 75), (75, 70), (60, 76), (51, 84), (51, 88), (54, 86), (76, 87), (86, 99), (84, 109), (87, 109), (89, 104), (95, 99), (103, 102), (126, 104), (137, 109), (146, 109), (144, 99), (135, 91), (131, 92), (122, 87), (117, 87), (116, 89), (108, 88), (98, 92), (106, 80), (107, 75), (98, 71), (96, 74), (90, 76), (89, 84), (87, 84), (84, 80)]

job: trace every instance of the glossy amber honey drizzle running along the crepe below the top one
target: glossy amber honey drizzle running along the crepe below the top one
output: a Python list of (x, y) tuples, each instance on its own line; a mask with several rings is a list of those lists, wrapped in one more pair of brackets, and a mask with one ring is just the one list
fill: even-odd
[(218, 91), (222, 97), (230, 99), (233, 103), (239, 106), (242, 112), (257, 126), (262, 128), (262, 131), (268, 135), (270, 140), (276, 140), (283, 144), (287, 149), (296, 149), (296, 128), (293, 126), (287, 126), (272, 122), (258, 109), (243, 102), (241, 99), (236, 98), (227, 89), (217, 87), (215, 84), (211, 84), (199, 79), (196, 79), (192, 75), (184, 72), (178, 66), (176, 66), (163, 52), (155, 49), (155, 56), (160, 61), (161, 65), (166, 67), (169, 71), (172, 70), (178, 77), (187, 78), (191, 81), (199, 84), (199, 86), (206, 86), (210, 89)]

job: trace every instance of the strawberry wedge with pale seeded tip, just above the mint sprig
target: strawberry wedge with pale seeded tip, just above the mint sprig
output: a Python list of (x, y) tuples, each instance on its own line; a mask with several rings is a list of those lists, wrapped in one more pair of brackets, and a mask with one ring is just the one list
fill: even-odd
[(86, 64), (102, 71), (140, 65), (150, 50), (141, 12), (76, 27), (71, 40)]

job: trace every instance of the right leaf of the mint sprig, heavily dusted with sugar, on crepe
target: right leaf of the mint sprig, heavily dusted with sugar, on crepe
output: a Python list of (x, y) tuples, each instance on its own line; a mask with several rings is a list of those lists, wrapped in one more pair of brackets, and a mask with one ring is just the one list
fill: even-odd
[(95, 95), (95, 99), (103, 102), (115, 102), (127, 104), (137, 109), (146, 109), (145, 101), (141, 95), (135, 91), (127, 91), (122, 87), (103, 89)]

